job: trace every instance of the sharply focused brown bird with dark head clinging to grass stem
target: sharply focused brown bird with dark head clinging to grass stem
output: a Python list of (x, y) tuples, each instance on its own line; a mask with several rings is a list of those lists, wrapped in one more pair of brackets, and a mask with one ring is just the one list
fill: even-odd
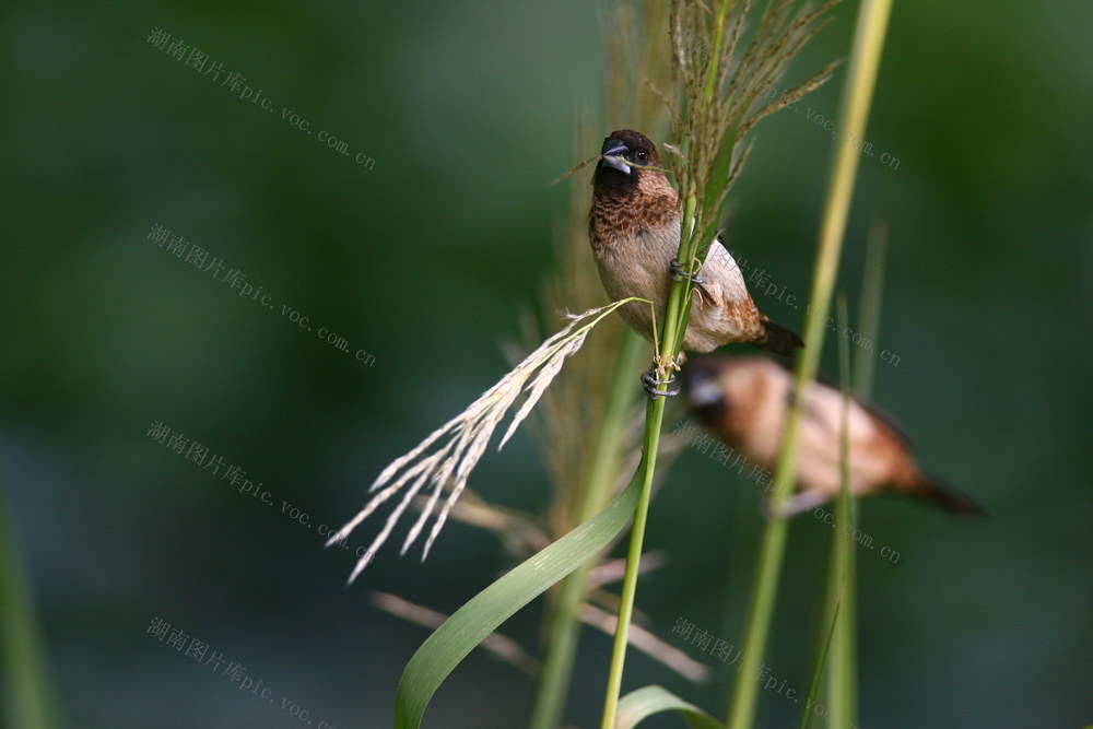
[[(588, 237), (612, 301), (648, 298), (656, 304), (659, 324), (672, 278), (685, 275), (674, 258), (682, 213), (679, 193), (665, 174), (635, 165), (659, 167), (657, 148), (636, 131), (611, 132), (592, 176)], [(740, 267), (719, 239), (709, 246), (694, 281), (684, 350), (709, 352), (729, 342), (748, 342), (791, 356), (794, 348), (802, 345), (800, 337), (755, 308)], [(631, 302), (620, 313), (635, 331), (653, 339), (647, 305)]]

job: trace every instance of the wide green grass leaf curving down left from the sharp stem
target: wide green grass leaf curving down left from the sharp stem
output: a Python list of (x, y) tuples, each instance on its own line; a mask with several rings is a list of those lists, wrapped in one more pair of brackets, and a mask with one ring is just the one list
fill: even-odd
[(402, 672), (395, 726), (418, 729), (433, 694), (459, 661), (517, 610), (607, 546), (634, 515), (645, 459), (630, 485), (596, 516), (514, 567), (451, 614)]

